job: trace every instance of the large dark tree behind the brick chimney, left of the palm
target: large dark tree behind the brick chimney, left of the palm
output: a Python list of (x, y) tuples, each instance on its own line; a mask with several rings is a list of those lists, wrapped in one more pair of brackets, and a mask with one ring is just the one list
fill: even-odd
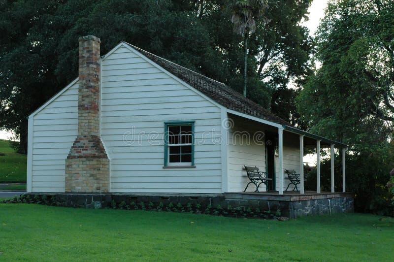
[(21, 153), (27, 117), (77, 76), (79, 36), (100, 37), (101, 54), (126, 40), (197, 71), (211, 48), (193, 13), (170, 1), (6, 0), (0, 8), (0, 129), (16, 132)]

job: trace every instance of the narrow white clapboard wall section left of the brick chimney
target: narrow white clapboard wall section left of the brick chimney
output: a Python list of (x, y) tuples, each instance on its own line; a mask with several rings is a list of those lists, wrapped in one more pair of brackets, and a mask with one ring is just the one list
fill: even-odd
[(32, 192), (65, 192), (66, 157), (77, 135), (77, 117), (78, 83), (33, 116)]

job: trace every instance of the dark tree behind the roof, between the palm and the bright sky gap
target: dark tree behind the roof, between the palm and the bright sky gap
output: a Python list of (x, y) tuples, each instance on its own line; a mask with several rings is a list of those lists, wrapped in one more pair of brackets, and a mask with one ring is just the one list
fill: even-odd
[[(313, 41), (300, 22), (308, 19), (310, 4), (311, 0), (268, 1), (263, 16), (255, 19), (255, 33), (247, 39), (247, 70), (245, 65), (243, 68), (233, 66), (247, 72), (248, 97), (300, 127), (302, 121), (295, 106), (296, 90), (312, 73), (308, 61), (313, 52)], [(229, 48), (220, 41), (218, 45), (229, 55), (237, 52), (234, 49), (238, 46)], [(238, 89), (237, 81), (234, 79), (229, 85)]]

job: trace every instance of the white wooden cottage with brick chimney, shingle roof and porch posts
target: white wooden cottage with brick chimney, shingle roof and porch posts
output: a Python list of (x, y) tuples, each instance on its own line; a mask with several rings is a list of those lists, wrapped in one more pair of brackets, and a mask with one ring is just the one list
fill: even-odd
[(248, 165), (266, 171), (280, 195), (284, 170), (296, 170), (303, 194), (303, 147), (346, 150), (129, 43), (100, 57), (99, 39), (86, 36), (79, 52), (79, 77), (29, 117), (28, 192), (242, 192)]

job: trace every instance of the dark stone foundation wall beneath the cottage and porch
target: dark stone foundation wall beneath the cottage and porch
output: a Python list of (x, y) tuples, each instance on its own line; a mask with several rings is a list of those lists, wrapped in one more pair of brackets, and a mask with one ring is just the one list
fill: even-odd
[(106, 208), (111, 207), (113, 203), (119, 205), (122, 201), (127, 205), (143, 202), (146, 206), (150, 203), (155, 206), (160, 203), (163, 203), (164, 206), (168, 206), (169, 203), (173, 205), (179, 203), (186, 206), (190, 203), (192, 205), (199, 204), (202, 209), (207, 206), (217, 208), (220, 205), (224, 209), (231, 206), (231, 208), (240, 210), (250, 208), (251, 210), (259, 209), (260, 212), (271, 211), (273, 213), (280, 210), (281, 216), (291, 219), (307, 215), (354, 212), (354, 198), (351, 196), (299, 201), (226, 199), (224, 194), (152, 194), (151, 196), (142, 194), (54, 194), (51, 196), (58, 202), (58, 205), (81, 208)]

